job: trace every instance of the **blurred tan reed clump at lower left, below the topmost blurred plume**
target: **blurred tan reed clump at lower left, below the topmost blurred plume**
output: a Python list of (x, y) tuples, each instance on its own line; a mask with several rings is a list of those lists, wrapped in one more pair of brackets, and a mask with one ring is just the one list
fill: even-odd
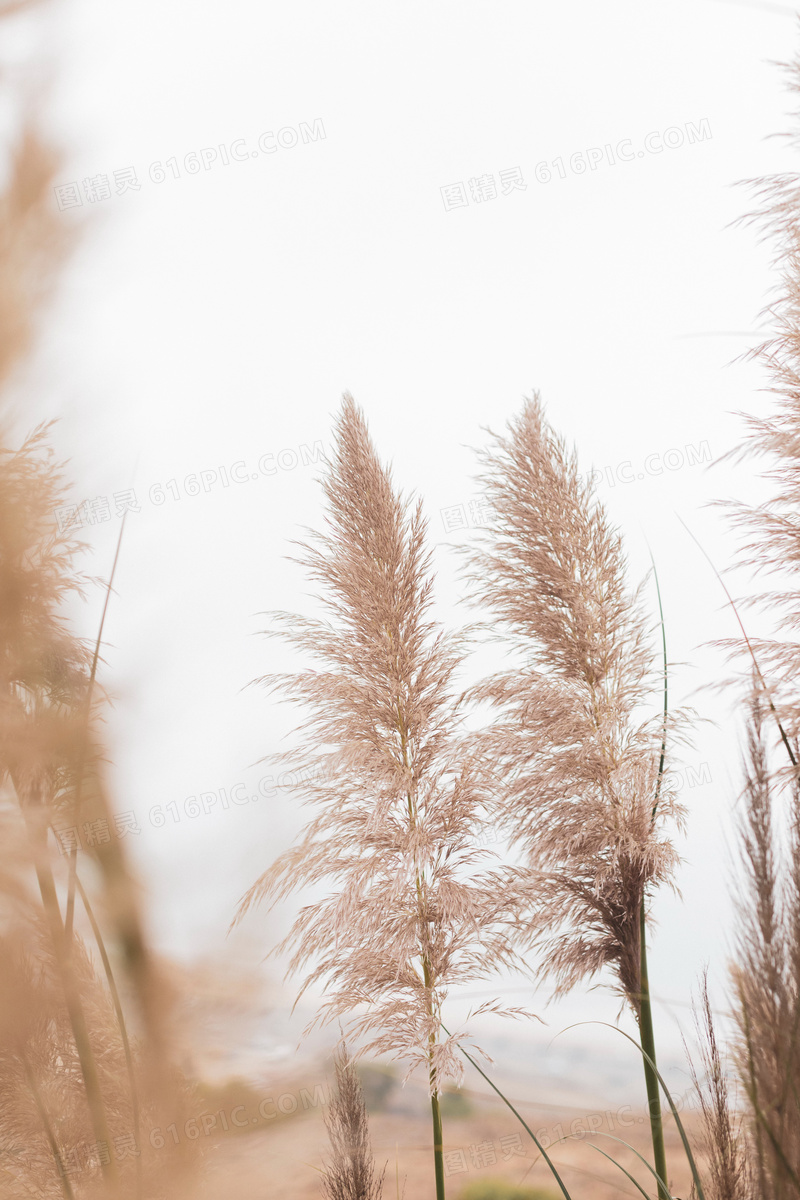
[[(65, 616), (65, 600), (80, 593), (85, 580), (76, 565), (82, 546), (55, 527), (62, 479), (46, 427), (17, 450), (0, 440), (0, 954), (5, 978), (0, 1145), (11, 1145), (22, 1164), (19, 1186), (40, 1188), (42, 1196), (72, 1195), (67, 1168), (76, 1171), (76, 1154), (83, 1156), (82, 1186), (91, 1186), (102, 1174), (108, 1195), (142, 1196), (140, 1186), (131, 1178), (136, 1172), (143, 1182), (140, 1118), (146, 1112), (155, 1128), (164, 1114), (175, 1114), (180, 1088), (168, 1078), (163, 992), (119, 839), (98, 839), (86, 854), (95, 860), (90, 876), (95, 869), (97, 875), (86, 881), (86, 888), (76, 880), (108, 988), (96, 973), (84, 938), (74, 929), (67, 931), (65, 920), (65, 860), (56, 851), (55, 835), (76, 834), (80, 823), (109, 829), (113, 812), (92, 720), (101, 698), (92, 702), (92, 655)], [(127, 1032), (106, 941), (138, 1004), (136, 1026), (143, 1034), (138, 1044)], [(20, 943), (24, 953), (17, 952)], [(23, 1118), (28, 1141), (19, 1136)], [(136, 1158), (131, 1157), (120, 1177), (108, 1150), (94, 1157), (85, 1150), (89, 1144), (109, 1147), (114, 1136), (133, 1138), (137, 1146)], [(20, 1153), (25, 1146), (30, 1154)], [(168, 1159), (169, 1154), (162, 1154), (157, 1163), (163, 1178), (157, 1188), (152, 1181), (154, 1198), (173, 1172), (174, 1163)]]

